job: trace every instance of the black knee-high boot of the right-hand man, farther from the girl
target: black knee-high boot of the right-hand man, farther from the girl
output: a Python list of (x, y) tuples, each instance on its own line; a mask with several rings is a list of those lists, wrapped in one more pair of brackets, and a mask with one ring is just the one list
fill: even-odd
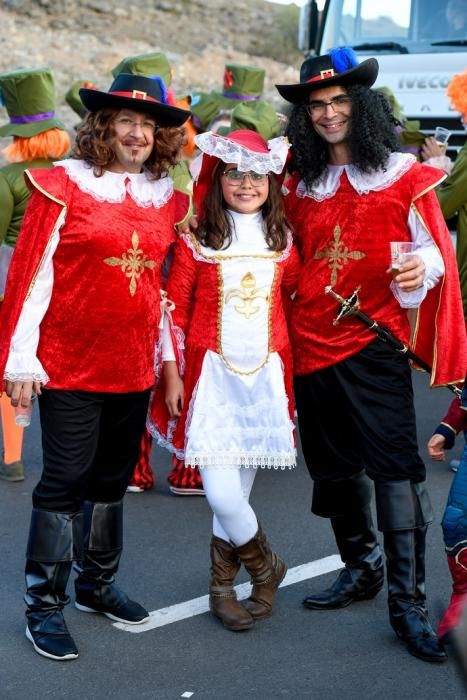
[(384, 533), (389, 621), (409, 652), (423, 661), (445, 661), (425, 606), (425, 540), (432, 520), (424, 484), (375, 484), (378, 527)]

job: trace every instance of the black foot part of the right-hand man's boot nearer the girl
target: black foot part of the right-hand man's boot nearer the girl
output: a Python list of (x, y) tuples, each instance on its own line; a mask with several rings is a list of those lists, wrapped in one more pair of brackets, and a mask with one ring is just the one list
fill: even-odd
[(368, 570), (346, 566), (330, 588), (308, 596), (303, 605), (311, 610), (345, 608), (358, 600), (374, 598), (384, 585), (384, 569)]

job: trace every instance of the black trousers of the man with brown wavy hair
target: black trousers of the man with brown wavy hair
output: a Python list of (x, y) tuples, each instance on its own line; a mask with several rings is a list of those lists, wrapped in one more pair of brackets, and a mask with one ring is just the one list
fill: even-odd
[(138, 459), (149, 393), (43, 389), (43, 471), (34, 508), (75, 513), (83, 501), (120, 501)]

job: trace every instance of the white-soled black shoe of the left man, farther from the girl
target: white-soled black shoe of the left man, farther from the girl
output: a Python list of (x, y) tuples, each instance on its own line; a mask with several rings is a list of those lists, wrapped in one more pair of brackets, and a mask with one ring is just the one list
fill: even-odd
[(69, 661), (79, 656), (61, 610), (28, 612), (26, 637), (37, 653), (48, 659)]

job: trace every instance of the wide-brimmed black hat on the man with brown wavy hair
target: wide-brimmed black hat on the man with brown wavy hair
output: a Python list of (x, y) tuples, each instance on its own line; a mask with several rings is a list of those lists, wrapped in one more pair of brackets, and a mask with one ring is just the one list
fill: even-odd
[(107, 107), (132, 109), (150, 114), (159, 126), (181, 126), (191, 112), (167, 104), (167, 92), (162, 78), (145, 78), (143, 75), (120, 73), (108, 92), (81, 88), (81, 100), (90, 112)]

